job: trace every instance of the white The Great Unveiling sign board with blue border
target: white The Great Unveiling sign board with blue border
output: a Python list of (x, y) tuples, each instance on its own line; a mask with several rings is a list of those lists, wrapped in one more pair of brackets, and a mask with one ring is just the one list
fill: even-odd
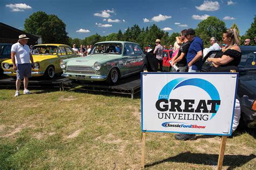
[(238, 73), (142, 73), (142, 131), (231, 135)]

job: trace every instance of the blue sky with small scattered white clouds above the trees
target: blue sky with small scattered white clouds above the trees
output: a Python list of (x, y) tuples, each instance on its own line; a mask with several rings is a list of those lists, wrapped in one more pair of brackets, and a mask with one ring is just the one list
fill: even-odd
[(195, 29), (208, 16), (215, 16), (227, 28), (237, 24), (240, 35), (244, 35), (251, 27), (255, 9), (255, 0), (0, 0), (0, 22), (23, 30), (26, 18), (44, 11), (62, 19), (69, 37), (84, 39), (95, 33), (107, 36), (119, 29), (125, 32), (134, 24), (140, 28), (156, 24), (171, 35)]

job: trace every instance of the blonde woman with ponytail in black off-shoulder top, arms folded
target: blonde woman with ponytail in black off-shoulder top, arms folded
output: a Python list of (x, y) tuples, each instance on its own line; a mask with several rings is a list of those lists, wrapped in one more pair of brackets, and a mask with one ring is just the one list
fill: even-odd
[(238, 64), (241, 60), (241, 50), (238, 33), (236, 29), (229, 29), (223, 33), (223, 43), (227, 44), (215, 58), (208, 58), (208, 62), (212, 62), (211, 72), (230, 72), (235, 70), (239, 72)]

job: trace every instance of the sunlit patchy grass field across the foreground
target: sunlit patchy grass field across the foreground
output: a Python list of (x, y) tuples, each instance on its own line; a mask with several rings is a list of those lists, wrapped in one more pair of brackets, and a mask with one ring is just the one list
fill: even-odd
[[(139, 169), (140, 98), (41, 91), (14, 98), (0, 90), (0, 169)], [(214, 169), (220, 138), (177, 141), (146, 134), (146, 168)], [(227, 139), (224, 169), (256, 169), (255, 136)]]

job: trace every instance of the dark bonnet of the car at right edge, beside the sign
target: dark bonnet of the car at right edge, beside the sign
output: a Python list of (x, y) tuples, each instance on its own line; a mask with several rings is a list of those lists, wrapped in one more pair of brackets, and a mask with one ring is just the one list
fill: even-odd
[(247, 96), (256, 99), (256, 74), (246, 74), (239, 77), (239, 86), (243, 87), (242, 89), (246, 91)]

